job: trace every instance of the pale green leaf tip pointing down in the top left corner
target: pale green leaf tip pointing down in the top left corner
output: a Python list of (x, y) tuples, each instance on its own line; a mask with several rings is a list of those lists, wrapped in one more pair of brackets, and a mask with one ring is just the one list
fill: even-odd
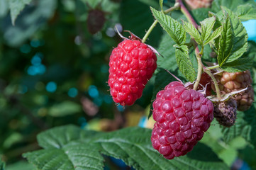
[(11, 10), (11, 23), (14, 26), (18, 14), (21, 13), (23, 8), (30, 4), (32, 0), (9, 0), (9, 7)]

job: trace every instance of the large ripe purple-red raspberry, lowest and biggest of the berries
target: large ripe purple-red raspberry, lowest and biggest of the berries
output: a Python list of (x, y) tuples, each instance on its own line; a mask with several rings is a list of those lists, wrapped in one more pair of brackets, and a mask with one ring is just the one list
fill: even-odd
[(157, 93), (153, 103), (152, 146), (166, 159), (187, 154), (201, 140), (213, 120), (213, 103), (193, 89), (173, 81)]

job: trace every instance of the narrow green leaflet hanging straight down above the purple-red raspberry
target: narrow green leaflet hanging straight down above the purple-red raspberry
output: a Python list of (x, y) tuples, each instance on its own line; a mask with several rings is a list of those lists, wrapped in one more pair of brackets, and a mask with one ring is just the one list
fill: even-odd
[(187, 45), (177, 47), (175, 50), (175, 56), (179, 70), (189, 81), (193, 82), (196, 79), (196, 72), (189, 58), (189, 49)]

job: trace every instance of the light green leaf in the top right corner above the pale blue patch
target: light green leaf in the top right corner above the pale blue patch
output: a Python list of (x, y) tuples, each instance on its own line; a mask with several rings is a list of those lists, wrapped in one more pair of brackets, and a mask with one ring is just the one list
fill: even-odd
[(235, 13), (240, 20), (247, 21), (250, 19), (256, 19), (256, 8), (251, 4), (240, 5), (237, 7)]

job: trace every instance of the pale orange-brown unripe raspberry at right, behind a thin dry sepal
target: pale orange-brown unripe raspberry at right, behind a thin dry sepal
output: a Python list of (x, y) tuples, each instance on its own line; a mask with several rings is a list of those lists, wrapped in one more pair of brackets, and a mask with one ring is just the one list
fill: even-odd
[[(249, 70), (235, 73), (224, 72), (222, 76), (216, 76), (216, 79), (220, 81), (219, 88), (222, 94), (239, 91), (247, 87), (246, 91), (235, 95), (235, 100), (238, 103), (238, 111), (246, 111), (250, 108), (254, 99), (254, 92)], [(212, 88), (215, 89), (213, 84)]]

